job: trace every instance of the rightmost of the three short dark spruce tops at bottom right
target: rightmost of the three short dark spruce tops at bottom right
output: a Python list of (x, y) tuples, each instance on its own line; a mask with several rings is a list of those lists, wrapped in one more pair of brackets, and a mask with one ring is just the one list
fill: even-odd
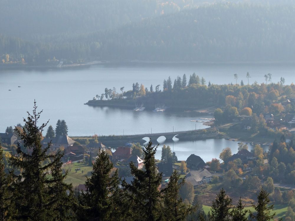
[(256, 219), (257, 221), (269, 221), (272, 220), (276, 213), (271, 215), (271, 211), (273, 210), (273, 204), (268, 205), (269, 193), (266, 192), (263, 188), (261, 188), (260, 192), (257, 195), (257, 205), (252, 203), (252, 207), (255, 209), (254, 212), (250, 212), (250, 217), (252, 219)]

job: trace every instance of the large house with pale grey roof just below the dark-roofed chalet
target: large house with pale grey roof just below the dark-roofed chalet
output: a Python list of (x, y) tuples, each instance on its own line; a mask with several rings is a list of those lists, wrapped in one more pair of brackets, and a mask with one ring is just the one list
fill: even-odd
[(211, 182), (213, 176), (207, 169), (201, 169), (197, 171), (190, 171), (186, 175), (186, 182), (190, 182), (194, 187), (201, 184), (206, 184)]

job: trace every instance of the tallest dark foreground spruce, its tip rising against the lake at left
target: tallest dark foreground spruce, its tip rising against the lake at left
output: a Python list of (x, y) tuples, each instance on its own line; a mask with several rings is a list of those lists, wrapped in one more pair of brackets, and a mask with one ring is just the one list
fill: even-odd
[[(37, 125), (42, 111), (37, 112), (36, 102), (33, 113), (27, 113), (24, 130), (21, 132), (16, 128), (23, 141), (24, 151), (18, 143), (17, 155), (11, 156), (9, 160), (13, 169), (21, 171), (19, 175), (10, 171), (13, 180), (9, 188), (12, 194), (9, 218), (42, 221), (59, 217), (60, 220), (67, 220), (65, 217), (68, 214), (60, 210), (60, 205), (71, 203), (71, 199), (65, 195), (65, 191), (71, 187), (64, 184), (64, 176), (58, 176), (62, 154), (48, 155), (50, 143), (42, 148), (42, 131), (48, 122)], [(49, 176), (50, 170), (52, 178)]]

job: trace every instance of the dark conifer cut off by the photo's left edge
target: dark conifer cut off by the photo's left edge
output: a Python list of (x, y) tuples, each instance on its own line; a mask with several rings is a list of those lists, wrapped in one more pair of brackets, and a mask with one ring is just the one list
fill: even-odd
[(0, 144), (0, 220), (5, 220), (8, 208), (8, 175), (5, 173), (4, 160), (3, 160), (3, 148)]

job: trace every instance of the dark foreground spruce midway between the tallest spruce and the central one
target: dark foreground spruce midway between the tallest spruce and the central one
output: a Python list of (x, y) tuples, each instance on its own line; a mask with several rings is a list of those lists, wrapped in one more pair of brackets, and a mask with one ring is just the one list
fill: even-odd
[[(81, 193), (83, 207), (81, 220), (116, 220), (120, 214), (120, 180), (118, 170), (110, 176), (113, 164), (101, 150), (93, 164), (91, 177), (85, 182), (86, 192)], [(122, 214), (123, 215), (123, 214)]]

